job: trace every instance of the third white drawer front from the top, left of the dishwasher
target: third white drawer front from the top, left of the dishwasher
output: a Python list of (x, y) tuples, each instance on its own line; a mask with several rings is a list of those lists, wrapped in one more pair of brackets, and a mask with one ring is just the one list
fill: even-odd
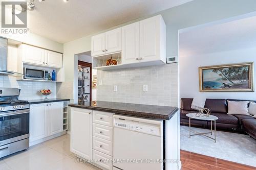
[(93, 136), (93, 149), (113, 156), (113, 142)]

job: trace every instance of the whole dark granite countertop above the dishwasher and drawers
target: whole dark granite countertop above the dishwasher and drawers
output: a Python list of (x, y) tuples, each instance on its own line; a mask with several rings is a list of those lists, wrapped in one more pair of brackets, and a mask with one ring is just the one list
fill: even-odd
[(69, 106), (162, 120), (169, 120), (179, 110), (177, 107), (171, 106), (140, 105), (103, 101), (97, 101), (96, 106), (90, 106), (89, 103), (69, 104)]

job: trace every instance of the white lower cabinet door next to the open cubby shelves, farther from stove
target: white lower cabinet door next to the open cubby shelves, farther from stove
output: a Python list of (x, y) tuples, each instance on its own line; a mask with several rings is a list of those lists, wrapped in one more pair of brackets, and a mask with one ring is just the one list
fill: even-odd
[(63, 102), (49, 103), (49, 135), (63, 131)]

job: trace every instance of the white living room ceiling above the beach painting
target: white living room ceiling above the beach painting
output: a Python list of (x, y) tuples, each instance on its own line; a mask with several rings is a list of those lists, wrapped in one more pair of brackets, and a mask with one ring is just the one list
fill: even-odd
[(204, 28), (179, 36), (180, 57), (256, 46), (256, 16)]

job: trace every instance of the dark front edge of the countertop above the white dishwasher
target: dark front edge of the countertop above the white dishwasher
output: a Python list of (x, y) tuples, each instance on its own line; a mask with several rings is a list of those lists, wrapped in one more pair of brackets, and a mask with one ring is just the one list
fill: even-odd
[(152, 119), (161, 119), (161, 120), (170, 120), (174, 114), (179, 110), (178, 107), (175, 108), (172, 112), (168, 115), (161, 115), (161, 114), (154, 114), (154, 113), (147, 113), (147, 112), (136, 112), (131, 110), (118, 110), (118, 109), (109, 109), (109, 108), (102, 108), (102, 107), (95, 107), (95, 106), (84, 106), (84, 105), (77, 105), (77, 104), (69, 104), (70, 107), (82, 108), (82, 109), (91, 109), (91, 110), (98, 110), (98, 111), (105, 111), (111, 112), (115, 114), (122, 114), (122, 115), (129, 115), (129, 116), (136, 116), (136, 117), (144, 117), (144, 118), (152, 118)]

